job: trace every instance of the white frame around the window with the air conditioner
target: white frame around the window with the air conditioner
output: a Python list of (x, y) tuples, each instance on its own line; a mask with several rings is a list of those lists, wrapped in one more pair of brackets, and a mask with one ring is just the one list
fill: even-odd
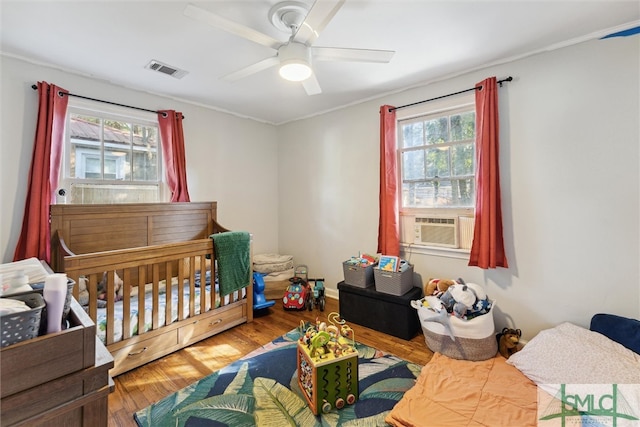
[[(439, 246), (428, 246), (424, 244), (416, 244), (413, 241), (413, 219), (415, 216), (438, 216), (438, 217), (473, 217), (474, 207), (433, 207), (433, 208), (416, 208), (404, 207), (402, 200), (402, 126), (401, 122), (416, 119), (419, 117), (430, 116), (432, 118), (438, 115), (449, 115), (456, 111), (464, 111), (474, 109), (475, 93), (465, 94), (461, 96), (443, 98), (441, 100), (432, 101), (425, 104), (418, 104), (413, 107), (407, 107), (396, 110), (397, 123), (397, 169), (398, 169), (398, 206), (400, 213), (400, 247), (405, 252), (421, 253), (427, 255), (437, 255), (450, 258), (468, 259), (469, 249), (448, 248)], [(474, 165), (475, 170), (475, 165)], [(477, 189), (476, 189), (477, 190)]]

